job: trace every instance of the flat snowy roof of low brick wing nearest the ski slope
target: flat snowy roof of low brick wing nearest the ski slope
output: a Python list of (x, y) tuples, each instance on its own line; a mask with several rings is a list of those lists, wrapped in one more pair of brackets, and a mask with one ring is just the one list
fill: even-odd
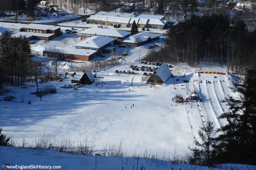
[[(57, 49), (57, 53), (65, 53), (65, 54), (73, 54), (73, 55), (83, 55), (83, 56), (89, 56), (92, 55), (94, 53), (96, 53), (96, 50), (92, 50), (92, 49), (81, 49), (81, 48), (56, 48)], [(52, 49), (48, 48), (45, 49), (44, 51), (49, 51), (49, 52), (53, 52)]]

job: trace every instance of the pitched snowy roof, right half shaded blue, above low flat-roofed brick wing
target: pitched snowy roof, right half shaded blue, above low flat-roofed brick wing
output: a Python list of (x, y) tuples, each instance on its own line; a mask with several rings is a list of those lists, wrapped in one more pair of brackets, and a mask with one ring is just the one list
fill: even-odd
[[(103, 28), (100, 28), (103, 29)], [(115, 41), (115, 38), (108, 38), (103, 36), (93, 36), (93, 37), (87, 37), (81, 42), (77, 43), (75, 46), (80, 47), (88, 47), (88, 48), (101, 48), (105, 46), (106, 44)]]

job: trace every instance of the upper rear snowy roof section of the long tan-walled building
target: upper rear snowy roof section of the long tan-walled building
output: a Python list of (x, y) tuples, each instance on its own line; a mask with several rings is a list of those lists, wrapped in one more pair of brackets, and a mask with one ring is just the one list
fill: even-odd
[(133, 13), (124, 13), (124, 12), (106, 12), (106, 11), (100, 11), (95, 15), (106, 15), (106, 16), (119, 16), (122, 18), (152, 18), (152, 19), (162, 19), (164, 18), (163, 15), (147, 15), (147, 14), (138, 14), (137, 12)]

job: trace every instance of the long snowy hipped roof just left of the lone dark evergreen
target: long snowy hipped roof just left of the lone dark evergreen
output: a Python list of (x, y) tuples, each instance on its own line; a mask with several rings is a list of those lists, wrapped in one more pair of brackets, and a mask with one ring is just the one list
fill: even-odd
[(95, 35), (95, 33), (96, 33), (96, 35), (120, 37), (120, 38), (123, 38), (130, 34), (130, 32), (127, 32), (127, 31), (106, 29), (106, 28), (89, 28), (80, 33), (92, 34), (92, 35)]

